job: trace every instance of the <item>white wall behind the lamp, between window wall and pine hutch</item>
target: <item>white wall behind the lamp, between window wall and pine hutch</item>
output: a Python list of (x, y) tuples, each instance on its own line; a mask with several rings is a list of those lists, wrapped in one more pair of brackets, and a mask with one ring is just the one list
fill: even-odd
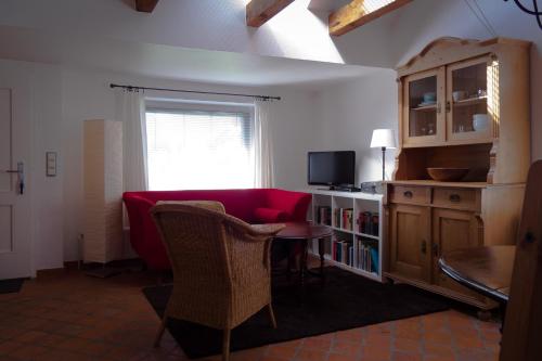
[[(373, 129), (398, 127), (397, 82), (392, 70), (326, 87), (318, 94), (318, 151), (356, 151), (357, 183), (382, 180), (382, 151), (371, 149)], [(393, 170), (395, 150), (386, 152), (386, 178)]]

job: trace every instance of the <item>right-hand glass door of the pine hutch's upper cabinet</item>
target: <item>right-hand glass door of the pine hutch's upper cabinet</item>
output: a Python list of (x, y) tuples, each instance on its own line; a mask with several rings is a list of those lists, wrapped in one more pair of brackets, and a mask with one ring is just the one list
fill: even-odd
[(447, 113), (449, 141), (491, 141), (493, 114), (492, 87), (494, 75), (488, 57), (451, 65), (447, 74)]

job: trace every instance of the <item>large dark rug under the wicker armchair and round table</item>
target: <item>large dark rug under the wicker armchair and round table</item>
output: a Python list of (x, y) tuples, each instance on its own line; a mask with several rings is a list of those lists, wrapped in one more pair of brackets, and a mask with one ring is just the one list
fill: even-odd
[[(273, 308), (278, 328), (266, 310), (232, 331), (231, 350), (242, 350), (369, 324), (449, 309), (442, 297), (404, 284), (382, 284), (335, 267), (325, 269), (324, 285), (312, 279), (302, 302), (296, 280), (273, 278)], [(162, 317), (171, 285), (143, 288)], [(222, 332), (194, 323), (169, 320), (168, 330), (190, 358), (221, 352)]]

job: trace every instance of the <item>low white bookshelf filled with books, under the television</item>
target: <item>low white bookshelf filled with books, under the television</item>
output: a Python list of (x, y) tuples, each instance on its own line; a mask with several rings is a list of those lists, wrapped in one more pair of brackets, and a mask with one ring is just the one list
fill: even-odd
[[(382, 263), (384, 257), (383, 255), (383, 240), (384, 240), (383, 197), (384, 196), (382, 194), (327, 191), (318, 189), (306, 189), (302, 191), (312, 194), (312, 203), (309, 208), (308, 219), (313, 221), (314, 223), (318, 223), (319, 220), (318, 212), (320, 207), (330, 207), (331, 224), (327, 225), (330, 225), (335, 231), (334, 237), (340, 236), (341, 240), (345, 240), (346, 242), (351, 242), (351, 245), (353, 247), (353, 255), (352, 255), (353, 259), (352, 257), (349, 257), (351, 261), (350, 265), (347, 265), (345, 262), (333, 259), (333, 243), (332, 243), (333, 238), (326, 240), (326, 242), (330, 242), (330, 244), (326, 245), (325, 247), (326, 249), (324, 255), (325, 260), (332, 266), (336, 266), (347, 271), (361, 274), (372, 280), (382, 282), (383, 280)], [(336, 209), (340, 208), (352, 209), (353, 222), (351, 229), (346, 229), (344, 227), (343, 217), (340, 217), (340, 220), (337, 220), (334, 217), (334, 215), (336, 215), (336, 212), (338, 211)], [(362, 233), (360, 231), (359, 223), (357, 223), (357, 219), (359, 218), (360, 212), (361, 214), (371, 212), (372, 215), (376, 214), (378, 215), (377, 231), (374, 232), (377, 233), (377, 235)], [(320, 223), (322, 223), (322, 221)], [(373, 227), (373, 231), (375, 227)], [(377, 272), (364, 270), (358, 267), (361, 261), (361, 259), (359, 259), (360, 258), (359, 241), (361, 241), (361, 243), (364, 245), (365, 244), (371, 245), (372, 248), (376, 248), (378, 255), (378, 260), (376, 262)], [(318, 242), (309, 244), (309, 252), (314, 255), (318, 255)]]

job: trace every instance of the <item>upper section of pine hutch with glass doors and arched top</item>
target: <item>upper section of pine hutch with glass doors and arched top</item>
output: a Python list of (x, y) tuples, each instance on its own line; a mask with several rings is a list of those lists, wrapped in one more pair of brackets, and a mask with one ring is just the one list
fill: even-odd
[(525, 182), (529, 48), (505, 38), (441, 38), (399, 67), (393, 180), (426, 181), (427, 168), (462, 168), (463, 182)]

